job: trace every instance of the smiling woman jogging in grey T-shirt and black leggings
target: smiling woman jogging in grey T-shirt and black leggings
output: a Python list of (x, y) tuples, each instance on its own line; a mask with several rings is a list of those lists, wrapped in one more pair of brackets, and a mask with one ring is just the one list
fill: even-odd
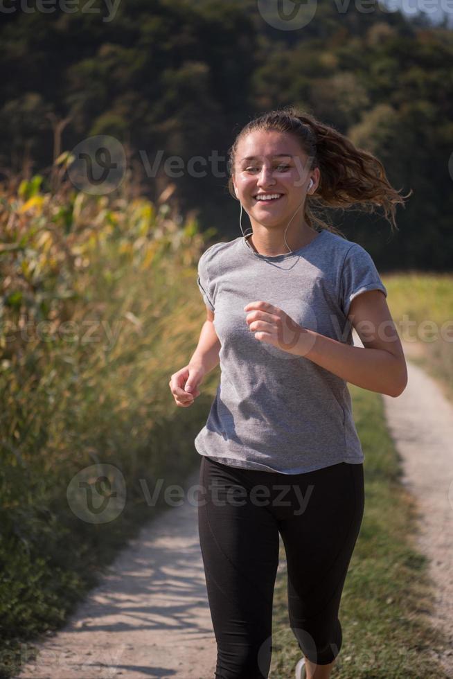
[[(229, 173), (242, 236), (199, 258), (207, 319), (190, 362), (169, 382), (188, 407), (220, 362), (195, 438), (215, 678), (268, 676), (281, 535), (290, 625), (303, 653), (296, 677), (324, 679), (341, 649), (339, 603), (364, 511), (364, 455), (346, 382), (399, 396), (407, 368), (371, 256), (314, 209), (382, 206), (395, 224), (407, 196), (373, 155), (293, 107), (245, 125)], [(353, 327), (363, 347), (353, 346)]]

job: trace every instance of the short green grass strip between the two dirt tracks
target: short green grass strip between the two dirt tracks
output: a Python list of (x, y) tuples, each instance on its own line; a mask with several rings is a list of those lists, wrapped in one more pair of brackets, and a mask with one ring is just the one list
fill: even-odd
[[(400, 483), (380, 394), (349, 385), (365, 455), (365, 511), (339, 609), (343, 645), (332, 679), (409, 679), (447, 675), (429, 649), (447, 640), (430, 628), (434, 588), (415, 543), (416, 508)], [(281, 545), (281, 563), (285, 552)], [(301, 658), (287, 615), (287, 576), (274, 594), (272, 678), (292, 679)]]

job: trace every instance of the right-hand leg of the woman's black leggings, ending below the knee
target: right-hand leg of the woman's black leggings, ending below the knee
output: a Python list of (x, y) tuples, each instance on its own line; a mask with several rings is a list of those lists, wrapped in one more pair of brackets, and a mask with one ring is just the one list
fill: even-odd
[(364, 513), (363, 465), (341, 462), (298, 475), (297, 482), (302, 511), (299, 503), (279, 523), (290, 624), (309, 660), (328, 664), (341, 648), (338, 611)]

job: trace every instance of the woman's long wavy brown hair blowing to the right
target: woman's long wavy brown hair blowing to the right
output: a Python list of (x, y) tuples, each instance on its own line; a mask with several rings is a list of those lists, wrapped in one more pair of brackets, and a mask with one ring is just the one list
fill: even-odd
[(299, 112), (294, 106), (273, 110), (242, 127), (229, 149), (229, 192), (234, 193), (233, 179), (236, 166), (236, 152), (239, 142), (250, 132), (256, 131), (287, 132), (299, 140), (303, 152), (308, 156), (308, 171), (319, 168), (320, 179), (317, 191), (307, 194), (304, 204), (304, 219), (310, 227), (327, 229), (344, 236), (332, 222), (325, 221), (317, 212), (328, 216), (326, 209), (347, 209), (358, 206), (359, 211), (373, 213), (377, 206), (384, 209), (384, 216), (391, 227), (398, 230), (395, 221), (396, 204), (402, 204), (412, 190), (405, 196), (396, 191), (384, 170), (382, 163), (371, 153), (357, 148), (348, 137), (337, 132), (334, 127), (321, 123), (314, 116)]

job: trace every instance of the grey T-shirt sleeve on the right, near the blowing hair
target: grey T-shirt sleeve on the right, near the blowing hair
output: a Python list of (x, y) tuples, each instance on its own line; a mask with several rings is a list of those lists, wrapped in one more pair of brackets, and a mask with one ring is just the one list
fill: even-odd
[(346, 253), (341, 270), (339, 301), (346, 317), (354, 297), (367, 290), (382, 290), (387, 297), (387, 288), (380, 279), (371, 255), (362, 245), (354, 243)]

